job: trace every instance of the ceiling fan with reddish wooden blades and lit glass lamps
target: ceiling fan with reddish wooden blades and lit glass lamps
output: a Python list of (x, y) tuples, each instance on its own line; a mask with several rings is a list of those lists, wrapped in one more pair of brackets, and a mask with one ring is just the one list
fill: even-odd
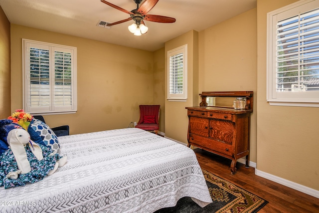
[(112, 6), (113, 8), (116, 8), (122, 12), (125, 12), (131, 15), (131, 17), (126, 18), (124, 20), (120, 20), (114, 23), (108, 23), (107, 26), (112, 26), (112, 25), (123, 23), (133, 19), (135, 23), (129, 26), (129, 30), (135, 35), (141, 35), (148, 31), (148, 27), (146, 26), (144, 20), (160, 22), (160, 23), (174, 23), (176, 21), (176, 19), (172, 17), (147, 14), (155, 6), (155, 4), (157, 4), (159, 0), (144, 0), (141, 6), (139, 6), (139, 4), (142, 2), (142, 0), (134, 0), (134, 2), (137, 4), (137, 8), (131, 11), (123, 9), (106, 0), (101, 0), (101, 1), (109, 6)]

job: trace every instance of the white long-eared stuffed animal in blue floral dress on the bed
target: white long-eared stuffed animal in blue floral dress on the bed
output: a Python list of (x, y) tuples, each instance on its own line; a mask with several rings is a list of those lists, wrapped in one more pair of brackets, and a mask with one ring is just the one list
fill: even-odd
[(35, 183), (62, 167), (67, 157), (36, 144), (24, 129), (12, 129), (7, 134), (9, 149), (0, 156), (0, 186), (5, 189)]

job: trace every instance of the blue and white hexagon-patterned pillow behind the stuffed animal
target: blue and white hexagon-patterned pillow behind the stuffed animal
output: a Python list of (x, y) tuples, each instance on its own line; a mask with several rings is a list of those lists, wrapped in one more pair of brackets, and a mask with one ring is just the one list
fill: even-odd
[(50, 129), (50, 127), (35, 118), (33, 118), (32, 121), (33, 122), (31, 122), (30, 126), (42, 138), (45, 146), (51, 148), (52, 151), (56, 150), (57, 152), (59, 152), (60, 145), (58, 137)]

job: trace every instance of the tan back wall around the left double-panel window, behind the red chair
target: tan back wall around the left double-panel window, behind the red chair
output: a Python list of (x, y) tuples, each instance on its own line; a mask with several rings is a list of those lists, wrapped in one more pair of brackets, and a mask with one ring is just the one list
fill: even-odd
[(71, 134), (126, 128), (139, 105), (153, 104), (153, 52), (11, 25), (11, 111), (22, 108), (22, 38), (77, 47), (78, 111), (47, 115), (51, 127)]

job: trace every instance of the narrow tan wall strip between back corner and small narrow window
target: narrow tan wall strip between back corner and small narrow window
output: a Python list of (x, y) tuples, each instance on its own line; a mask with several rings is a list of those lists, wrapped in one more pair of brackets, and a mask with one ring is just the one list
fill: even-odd
[(165, 132), (165, 48), (154, 52), (154, 104), (160, 104), (160, 132)]

